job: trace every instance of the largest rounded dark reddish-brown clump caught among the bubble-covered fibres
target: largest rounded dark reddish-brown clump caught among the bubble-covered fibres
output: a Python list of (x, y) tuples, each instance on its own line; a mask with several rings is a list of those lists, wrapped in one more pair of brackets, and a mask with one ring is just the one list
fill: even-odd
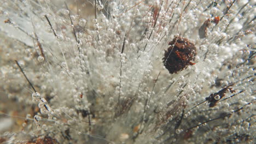
[(196, 47), (188, 39), (176, 36), (168, 45), (163, 62), (170, 74), (195, 64), (191, 61), (196, 55)]

